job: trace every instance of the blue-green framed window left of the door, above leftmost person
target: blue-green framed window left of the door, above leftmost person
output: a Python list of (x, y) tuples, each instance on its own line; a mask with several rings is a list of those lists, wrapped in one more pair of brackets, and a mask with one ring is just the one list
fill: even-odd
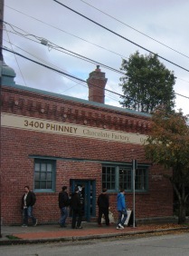
[(34, 160), (34, 190), (53, 192), (55, 187), (55, 161)]

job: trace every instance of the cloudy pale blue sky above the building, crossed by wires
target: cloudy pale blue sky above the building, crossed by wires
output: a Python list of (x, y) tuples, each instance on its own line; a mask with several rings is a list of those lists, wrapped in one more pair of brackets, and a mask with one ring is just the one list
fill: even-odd
[[(174, 63), (159, 58), (176, 77), (175, 110), (182, 109), (184, 114), (189, 113), (189, 1), (58, 2), (135, 44), (91, 23), (56, 1), (5, 0), (3, 45), (36, 62), (52, 66), (84, 81), (96, 69), (95, 63), (120, 71), (122, 59), (128, 59), (137, 51), (139, 54), (149, 54), (148, 51), (151, 51)], [(47, 45), (41, 44), (43, 39)], [(72, 56), (68, 51), (85, 56), (94, 63)], [(87, 84), (34, 64), (16, 54), (6, 51), (3, 54), (5, 64), (14, 69), (16, 84), (88, 100)], [(106, 89), (122, 94), (119, 78), (123, 74), (102, 65), (100, 69), (108, 78)], [(119, 101), (117, 94), (106, 92), (105, 103), (121, 107)]]

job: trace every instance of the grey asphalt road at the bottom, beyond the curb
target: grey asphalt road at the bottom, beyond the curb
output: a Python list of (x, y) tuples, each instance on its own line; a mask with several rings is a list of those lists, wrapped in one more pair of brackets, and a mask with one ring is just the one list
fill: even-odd
[(189, 255), (189, 233), (93, 240), (54, 242), (0, 247), (1, 256), (180, 256)]

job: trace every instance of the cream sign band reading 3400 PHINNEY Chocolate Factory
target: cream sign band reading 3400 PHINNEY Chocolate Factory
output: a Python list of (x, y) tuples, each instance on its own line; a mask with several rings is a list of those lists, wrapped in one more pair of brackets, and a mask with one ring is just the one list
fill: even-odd
[(91, 139), (114, 141), (118, 143), (146, 143), (147, 136), (138, 133), (124, 133), (109, 129), (99, 129), (72, 123), (61, 123), (28, 116), (2, 113), (2, 127), (24, 129), (42, 133), (79, 136)]

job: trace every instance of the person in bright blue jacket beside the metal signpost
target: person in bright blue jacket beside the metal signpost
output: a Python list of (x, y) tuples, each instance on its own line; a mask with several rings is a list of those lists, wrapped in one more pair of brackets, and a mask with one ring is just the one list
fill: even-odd
[(120, 189), (117, 197), (117, 209), (118, 209), (118, 225), (117, 230), (124, 229), (124, 223), (127, 220), (128, 213), (127, 213), (127, 204), (125, 200), (125, 190)]

